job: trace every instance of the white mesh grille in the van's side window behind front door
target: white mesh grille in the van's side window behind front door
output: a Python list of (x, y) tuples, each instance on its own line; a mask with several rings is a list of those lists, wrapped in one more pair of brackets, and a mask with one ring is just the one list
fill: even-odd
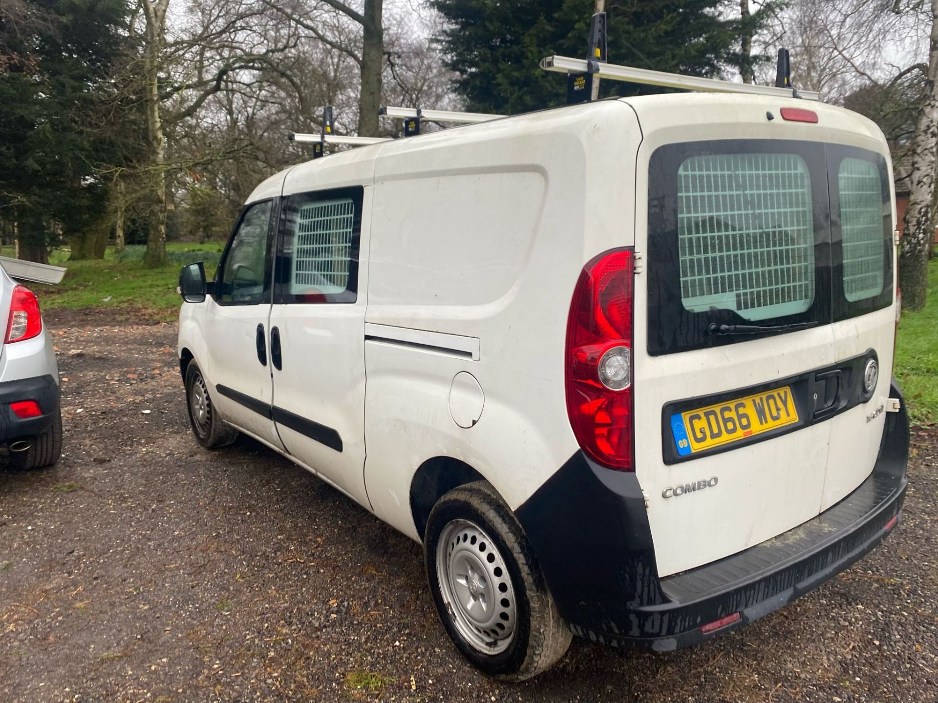
[(310, 202), (296, 214), (290, 292), (342, 292), (348, 286), (355, 203)]

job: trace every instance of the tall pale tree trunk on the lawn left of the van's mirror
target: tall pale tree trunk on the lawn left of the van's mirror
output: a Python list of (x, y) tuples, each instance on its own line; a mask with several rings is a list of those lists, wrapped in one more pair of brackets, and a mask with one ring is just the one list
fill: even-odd
[[(150, 214), (144, 266), (166, 265), (166, 144), (159, 115), (159, 61), (164, 40), (166, 4), (169, 0), (144, 0), (144, 112), (150, 167)], [(375, 117), (377, 119), (377, 116)]]

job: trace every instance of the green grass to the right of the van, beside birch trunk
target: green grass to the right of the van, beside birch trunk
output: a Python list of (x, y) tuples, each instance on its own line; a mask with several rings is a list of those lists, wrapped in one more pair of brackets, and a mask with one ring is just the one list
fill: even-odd
[(912, 422), (938, 423), (938, 259), (929, 264), (925, 309), (902, 313), (893, 369), (909, 403)]

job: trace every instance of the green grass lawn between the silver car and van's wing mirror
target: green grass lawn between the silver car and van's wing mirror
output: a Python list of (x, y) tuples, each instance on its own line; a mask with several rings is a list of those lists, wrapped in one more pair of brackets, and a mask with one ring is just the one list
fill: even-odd
[(127, 247), (117, 254), (108, 247), (102, 261), (68, 262), (68, 251), (56, 250), (49, 262), (68, 267), (57, 286), (34, 284), (43, 309), (57, 307), (113, 307), (133, 309), (159, 320), (174, 320), (181, 300), (175, 292), (179, 269), (191, 262), (204, 261), (205, 274), (215, 273), (223, 243), (178, 244), (166, 246), (171, 263), (165, 268), (147, 269), (142, 263), (144, 247)]

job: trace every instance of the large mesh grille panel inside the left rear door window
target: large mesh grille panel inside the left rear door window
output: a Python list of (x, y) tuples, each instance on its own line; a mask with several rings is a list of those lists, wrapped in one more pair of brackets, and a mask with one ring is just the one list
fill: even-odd
[(747, 320), (814, 300), (808, 166), (794, 154), (690, 157), (678, 170), (681, 301)]

